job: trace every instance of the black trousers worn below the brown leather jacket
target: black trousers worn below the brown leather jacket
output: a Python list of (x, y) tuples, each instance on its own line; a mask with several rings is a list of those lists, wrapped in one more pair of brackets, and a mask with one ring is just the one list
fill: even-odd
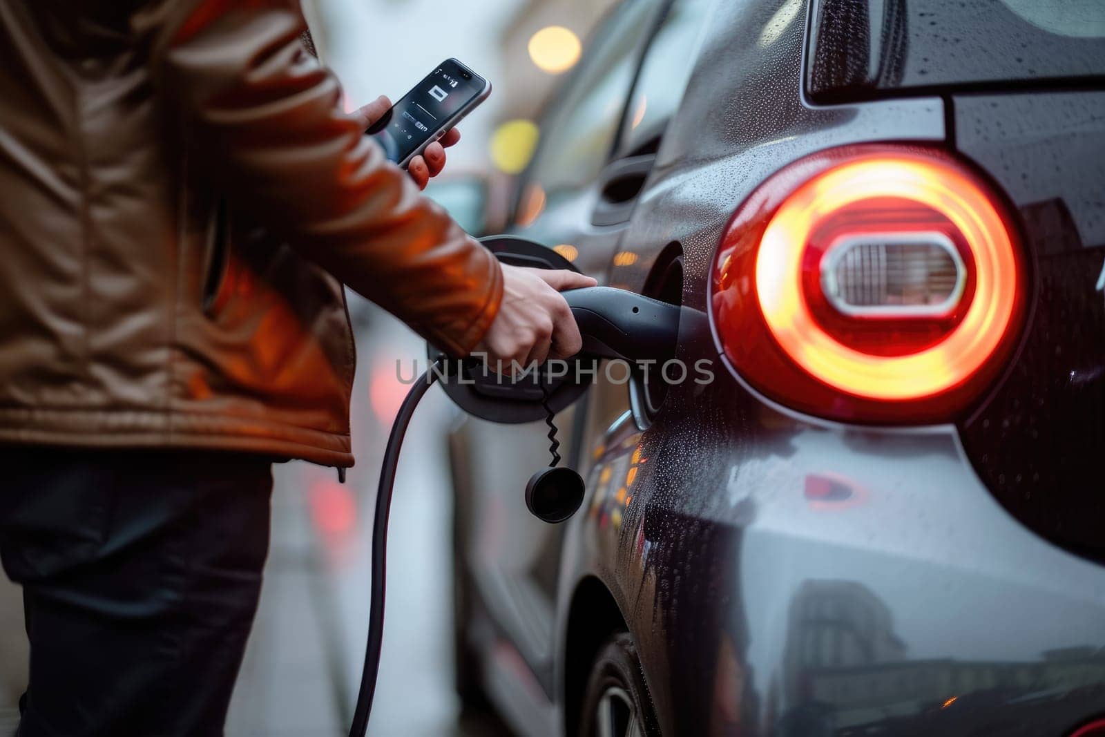
[(20, 737), (221, 735), (269, 550), (271, 460), (0, 449), (31, 643)]

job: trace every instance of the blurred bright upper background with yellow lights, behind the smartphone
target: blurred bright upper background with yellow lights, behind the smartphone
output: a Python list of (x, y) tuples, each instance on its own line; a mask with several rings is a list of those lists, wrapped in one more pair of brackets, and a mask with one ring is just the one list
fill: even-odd
[(304, 12), (320, 55), (341, 80), (348, 109), (380, 94), (397, 102), (449, 56), (492, 82), (490, 99), (461, 125), (464, 143), (449, 151), (445, 172), (429, 191), (476, 231), (494, 230), (505, 218), (511, 177), (528, 164), (540, 135), (535, 119), (543, 104), (612, 4), (304, 0)]

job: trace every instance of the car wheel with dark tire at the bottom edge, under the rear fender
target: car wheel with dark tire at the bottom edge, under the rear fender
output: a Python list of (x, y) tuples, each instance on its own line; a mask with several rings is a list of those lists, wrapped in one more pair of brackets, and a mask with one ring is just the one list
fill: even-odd
[(582, 708), (579, 737), (659, 737), (652, 698), (636, 644), (629, 632), (607, 640), (591, 665)]

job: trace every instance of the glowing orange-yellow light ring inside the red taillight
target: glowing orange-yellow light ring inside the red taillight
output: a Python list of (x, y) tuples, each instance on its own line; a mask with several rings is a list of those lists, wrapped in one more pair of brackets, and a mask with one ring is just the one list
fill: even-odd
[[(861, 200), (895, 197), (946, 215), (975, 259), (975, 294), (939, 344), (905, 356), (850, 348), (813, 319), (802, 293), (802, 253), (814, 227)], [(756, 289), (771, 335), (806, 371), (857, 397), (919, 399), (969, 378), (1013, 317), (1018, 261), (1009, 231), (976, 179), (943, 160), (880, 155), (841, 164), (799, 187), (776, 211), (756, 255)]]

